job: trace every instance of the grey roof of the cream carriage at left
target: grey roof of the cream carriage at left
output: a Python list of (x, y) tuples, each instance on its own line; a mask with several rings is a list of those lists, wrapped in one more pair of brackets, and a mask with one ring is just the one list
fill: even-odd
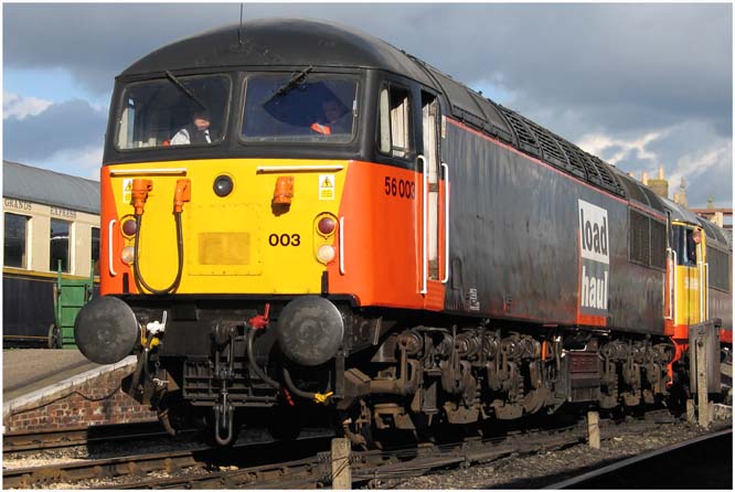
[(2, 195), (99, 214), (99, 182), (2, 161)]

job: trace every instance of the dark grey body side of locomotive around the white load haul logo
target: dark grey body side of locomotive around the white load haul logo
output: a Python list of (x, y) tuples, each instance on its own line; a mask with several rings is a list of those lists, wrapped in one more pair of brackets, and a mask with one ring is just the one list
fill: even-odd
[[(448, 121), (450, 311), (577, 325), (583, 296), (579, 201), (607, 212), (608, 329), (663, 332), (663, 269), (629, 259), (630, 203)], [(661, 216), (637, 207), (660, 222)], [(603, 240), (603, 239), (600, 239)], [(663, 246), (665, 247), (665, 246)], [(584, 318), (583, 318), (584, 320)]]

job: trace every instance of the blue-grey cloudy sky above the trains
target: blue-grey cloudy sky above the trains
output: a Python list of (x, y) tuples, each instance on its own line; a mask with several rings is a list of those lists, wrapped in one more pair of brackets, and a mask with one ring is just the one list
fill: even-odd
[[(733, 12), (715, 4), (245, 3), (355, 26), (690, 206), (732, 206)], [(3, 4), (3, 158), (97, 179), (115, 75), (239, 3)]]

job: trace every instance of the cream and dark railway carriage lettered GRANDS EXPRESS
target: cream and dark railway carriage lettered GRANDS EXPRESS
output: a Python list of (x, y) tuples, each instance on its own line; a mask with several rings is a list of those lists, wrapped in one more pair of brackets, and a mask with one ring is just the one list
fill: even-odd
[(54, 285), (98, 275), (99, 182), (2, 161), (3, 346), (45, 343)]

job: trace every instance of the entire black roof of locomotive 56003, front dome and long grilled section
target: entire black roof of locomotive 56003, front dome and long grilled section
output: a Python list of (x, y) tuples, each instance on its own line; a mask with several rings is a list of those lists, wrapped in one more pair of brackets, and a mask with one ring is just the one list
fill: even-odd
[(596, 188), (663, 212), (660, 201), (645, 191), (637, 193), (637, 185), (628, 183), (601, 159), (385, 41), (331, 22), (267, 19), (216, 29), (161, 47), (130, 65), (119, 77), (162, 75), (166, 71), (309, 65), (377, 68), (413, 78), (441, 92), (448, 115), (464, 124)]

